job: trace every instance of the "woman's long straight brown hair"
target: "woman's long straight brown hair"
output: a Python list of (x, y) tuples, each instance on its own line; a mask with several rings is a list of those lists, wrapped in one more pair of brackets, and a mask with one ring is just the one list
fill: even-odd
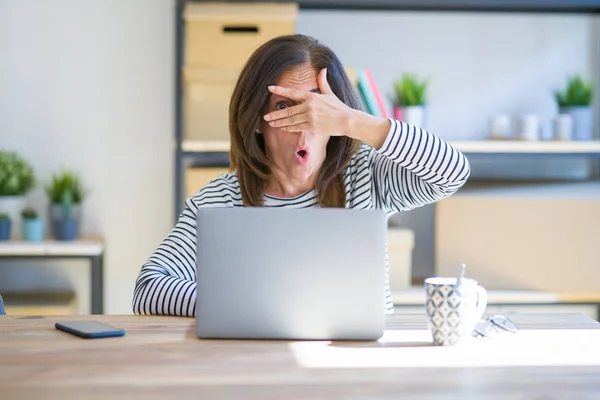
[[(317, 72), (327, 68), (333, 93), (349, 107), (361, 109), (342, 63), (327, 46), (305, 35), (280, 36), (260, 46), (241, 70), (229, 105), (230, 164), (237, 171), (246, 206), (263, 205), (271, 175), (263, 137), (256, 134), (271, 96), (267, 87), (275, 85), (283, 72), (306, 63)], [(358, 147), (359, 142), (347, 136), (329, 139), (316, 180), (321, 207), (345, 206), (344, 169)]]

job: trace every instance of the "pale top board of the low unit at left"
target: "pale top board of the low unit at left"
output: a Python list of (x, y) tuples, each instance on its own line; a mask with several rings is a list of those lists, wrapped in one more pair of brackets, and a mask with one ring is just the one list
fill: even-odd
[(29, 256), (99, 256), (104, 251), (100, 239), (81, 239), (74, 241), (0, 242), (0, 257)]

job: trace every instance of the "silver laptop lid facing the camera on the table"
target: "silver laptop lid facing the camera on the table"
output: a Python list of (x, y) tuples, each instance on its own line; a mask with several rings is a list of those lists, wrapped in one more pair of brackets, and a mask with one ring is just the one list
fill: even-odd
[(383, 211), (200, 208), (197, 223), (199, 338), (383, 335)]

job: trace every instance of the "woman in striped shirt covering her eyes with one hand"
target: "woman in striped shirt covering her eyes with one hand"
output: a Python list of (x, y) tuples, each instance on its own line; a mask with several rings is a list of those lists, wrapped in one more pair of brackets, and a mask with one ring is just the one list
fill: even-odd
[[(187, 199), (142, 267), (135, 313), (195, 315), (199, 207), (378, 208), (389, 217), (450, 196), (470, 174), (440, 138), (360, 111), (340, 60), (303, 35), (275, 38), (249, 58), (229, 129), (234, 172)], [(387, 276), (385, 298), (391, 312)]]

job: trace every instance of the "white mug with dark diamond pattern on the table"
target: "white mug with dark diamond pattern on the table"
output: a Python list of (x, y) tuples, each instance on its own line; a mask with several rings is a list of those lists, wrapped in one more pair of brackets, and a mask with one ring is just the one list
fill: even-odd
[(487, 307), (487, 291), (473, 279), (425, 280), (427, 323), (437, 346), (454, 346), (471, 337)]

